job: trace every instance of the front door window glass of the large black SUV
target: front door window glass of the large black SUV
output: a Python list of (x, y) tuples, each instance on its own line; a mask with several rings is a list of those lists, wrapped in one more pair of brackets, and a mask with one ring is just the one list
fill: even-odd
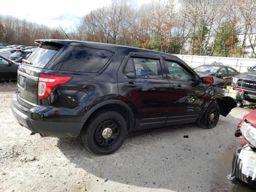
[(166, 61), (169, 70), (170, 80), (175, 81), (195, 81), (195, 76), (176, 62)]

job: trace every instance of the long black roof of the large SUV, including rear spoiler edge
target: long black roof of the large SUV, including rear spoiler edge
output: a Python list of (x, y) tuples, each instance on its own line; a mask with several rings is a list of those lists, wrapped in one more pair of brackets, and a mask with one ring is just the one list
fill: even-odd
[(117, 44), (108, 44), (108, 43), (99, 43), (99, 42), (90, 42), (90, 41), (80, 41), (80, 40), (58, 40), (58, 39), (38, 39), (35, 40), (36, 44), (40, 44), (40, 43), (44, 43), (44, 42), (54, 42), (54, 43), (58, 43), (58, 44), (64, 44), (64, 45), (72, 45), (72, 43), (80, 43), (80, 44), (100, 44), (103, 46), (114, 46), (114, 47), (122, 47), (122, 48), (130, 48), (133, 50), (139, 50), (139, 51), (146, 51), (146, 52), (150, 52), (150, 53), (155, 53), (155, 54), (162, 54), (162, 55), (166, 55), (166, 56), (173, 56), (178, 58), (175, 55), (172, 54), (168, 54), (168, 53), (164, 53), (164, 52), (160, 52), (160, 51), (154, 51), (154, 50), (149, 50), (149, 49), (143, 49), (143, 48), (137, 48), (137, 47), (130, 47), (130, 46), (124, 46), (124, 45), (117, 45)]

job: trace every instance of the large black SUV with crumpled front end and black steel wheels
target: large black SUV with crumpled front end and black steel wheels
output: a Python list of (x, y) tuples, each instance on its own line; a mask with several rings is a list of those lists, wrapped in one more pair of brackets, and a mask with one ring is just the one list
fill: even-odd
[(200, 77), (178, 57), (76, 40), (36, 40), (18, 68), (11, 108), (41, 136), (81, 135), (95, 154), (117, 150), (132, 130), (197, 122), (216, 126), (236, 102), (213, 77)]

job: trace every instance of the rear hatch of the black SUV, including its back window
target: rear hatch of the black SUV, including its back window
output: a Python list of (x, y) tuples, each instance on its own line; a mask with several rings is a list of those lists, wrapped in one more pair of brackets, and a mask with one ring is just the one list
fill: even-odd
[(30, 109), (37, 105), (39, 74), (62, 46), (63, 44), (52, 44), (51, 42), (41, 43), (19, 66), (17, 100), (26, 108)]

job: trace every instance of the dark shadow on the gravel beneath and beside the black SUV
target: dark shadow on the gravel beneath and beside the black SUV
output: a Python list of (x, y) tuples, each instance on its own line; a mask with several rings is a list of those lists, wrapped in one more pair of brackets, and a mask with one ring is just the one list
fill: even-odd
[[(108, 156), (92, 154), (80, 138), (59, 138), (58, 146), (77, 168), (123, 184), (174, 191), (246, 191), (241, 186), (230, 186), (225, 180), (227, 173), (216, 169), (229, 164), (218, 166), (222, 154), (236, 146), (233, 133), (232, 146), (225, 143), (230, 143), (226, 133), (219, 134), (226, 123), (212, 130), (185, 124), (132, 132), (122, 147)], [(214, 188), (212, 182), (216, 182)]]

